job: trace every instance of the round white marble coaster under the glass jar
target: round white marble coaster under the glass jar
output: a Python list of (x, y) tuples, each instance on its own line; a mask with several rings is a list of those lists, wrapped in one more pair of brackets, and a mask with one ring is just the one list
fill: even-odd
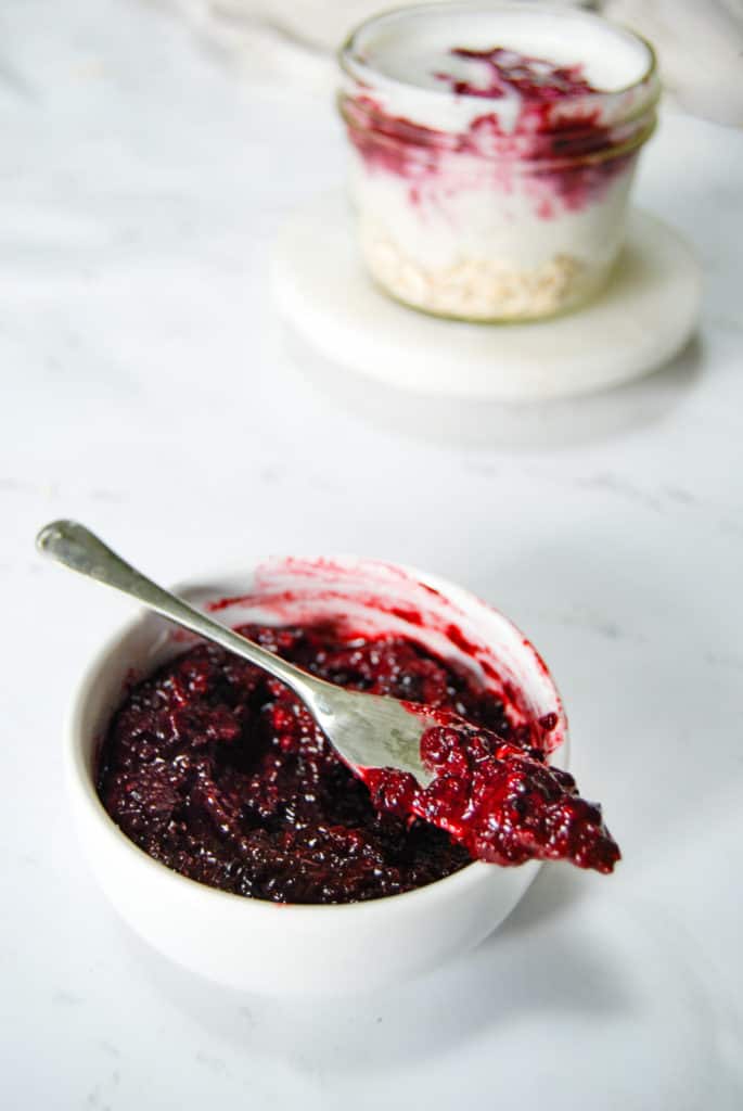
[(368, 278), (341, 191), (290, 218), (271, 282), (294, 330), (337, 366), (409, 391), (495, 401), (591, 393), (649, 373), (686, 343), (701, 297), (700, 267), (683, 239), (634, 211), (610, 284), (579, 311), (518, 324), (438, 320)]

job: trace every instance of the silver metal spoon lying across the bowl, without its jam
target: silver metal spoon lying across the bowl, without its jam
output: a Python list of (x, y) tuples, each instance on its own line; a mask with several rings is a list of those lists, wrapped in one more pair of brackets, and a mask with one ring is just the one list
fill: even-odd
[(402, 702), (382, 694), (344, 690), (288, 663), (158, 587), (76, 521), (44, 526), (37, 537), (37, 548), (58, 563), (114, 587), (280, 679), (304, 702), (338, 754), (357, 773), (367, 768), (399, 768), (411, 772), (421, 787), (433, 779), (421, 763), (420, 741), (423, 731), (438, 722), (424, 712), (413, 713)]

